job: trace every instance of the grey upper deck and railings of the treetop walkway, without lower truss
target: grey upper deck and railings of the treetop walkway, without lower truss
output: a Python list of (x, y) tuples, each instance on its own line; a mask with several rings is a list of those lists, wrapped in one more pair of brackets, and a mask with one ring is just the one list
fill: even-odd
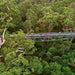
[(75, 33), (31, 33), (26, 34), (25, 38), (75, 38)]

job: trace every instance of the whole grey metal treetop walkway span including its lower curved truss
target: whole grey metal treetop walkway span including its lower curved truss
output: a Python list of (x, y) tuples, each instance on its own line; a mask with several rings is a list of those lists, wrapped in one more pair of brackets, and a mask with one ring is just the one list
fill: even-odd
[(36, 40), (37, 42), (66, 40), (71, 38), (75, 38), (75, 33), (31, 33), (25, 36), (25, 39)]

